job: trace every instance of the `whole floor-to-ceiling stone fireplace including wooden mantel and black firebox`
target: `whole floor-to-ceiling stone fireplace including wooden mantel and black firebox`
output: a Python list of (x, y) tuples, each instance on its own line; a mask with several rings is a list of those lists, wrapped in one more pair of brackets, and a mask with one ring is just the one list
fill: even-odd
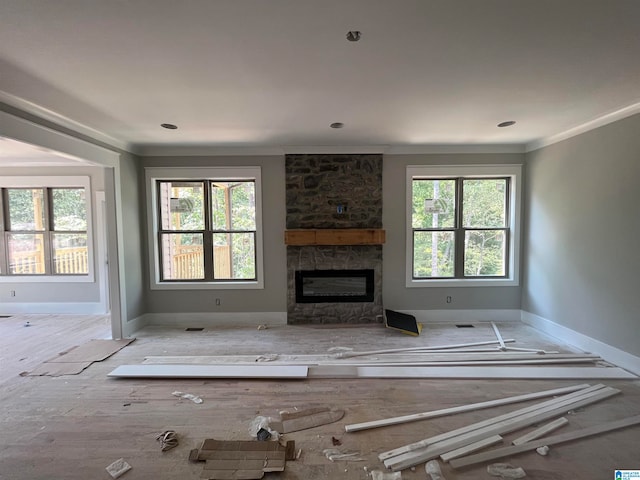
[(287, 155), (287, 322), (382, 321), (382, 155)]

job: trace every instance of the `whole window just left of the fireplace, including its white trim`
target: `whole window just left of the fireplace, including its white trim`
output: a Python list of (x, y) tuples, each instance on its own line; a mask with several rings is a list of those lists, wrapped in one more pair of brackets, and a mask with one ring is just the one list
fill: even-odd
[(149, 168), (147, 180), (152, 288), (262, 285), (259, 168)]

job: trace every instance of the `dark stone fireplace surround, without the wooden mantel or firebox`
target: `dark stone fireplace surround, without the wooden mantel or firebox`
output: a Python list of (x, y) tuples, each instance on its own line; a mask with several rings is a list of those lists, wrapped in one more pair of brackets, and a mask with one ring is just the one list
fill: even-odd
[[(288, 231), (382, 228), (382, 155), (287, 155), (285, 176)], [(296, 302), (296, 271), (364, 269), (372, 302)], [(287, 246), (287, 323), (376, 323), (382, 311), (381, 244)]]

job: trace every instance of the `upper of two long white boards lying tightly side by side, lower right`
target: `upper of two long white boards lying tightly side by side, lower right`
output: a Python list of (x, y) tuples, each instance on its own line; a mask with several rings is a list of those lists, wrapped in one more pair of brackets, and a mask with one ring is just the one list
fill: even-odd
[(535, 411), (539, 411), (541, 409), (547, 408), (547, 407), (554, 407), (554, 406), (564, 406), (566, 408), (566, 405), (568, 405), (571, 402), (574, 402), (576, 400), (582, 400), (584, 398), (589, 398), (592, 395), (596, 394), (597, 392), (602, 391), (605, 387), (603, 384), (598, 384), (598, 385), (593, 385), (591, 387), (582, 389), (582, 390), (578, 390), (576, 392), (571, 392), (568, 394), (565, 394), (561, 397), (558, 398), (553, 398), (551, 400), (546, 400), (544, 402), (540, 402), (540, 403), (536, 403), (534, 405), (530, 405), (528, 407), (524, 407), (518, 410), (514, 410), (512, 412), (508, 412), (502, 415), (499, 415), (497, 417), (492, 417), (492, 418), (488, 418), (486, 420), (483, 420), (481, 422), (476, 422), (473, 423), (471, 425), (467, 425), (464, 427), (460, 427), (457, 428), (455, 430), (450, 430), (448, 432), (444, 432), (441, 433), (439, 435), (435, 435), (433, 437), (429, 437), (429, 438), (425, 438), (424, 440), (420, 440), (418, 442), (414, 442), (414, 443), (410, 443), (409, 445), (404, 445), (402, 447), (399, 448), (395, 448), (393, 450), (389, 450), (387, 452), (382, 452), (381, 454), (378, 455), (378, 458), (380, 460), (386, 460), (388, 458), (391, 457), (395, 457), (398, 455), (401, 455), (403, 453), (407, 453), (407, 452), (411, 452), (411, 451), (415, 451), (415, 450), (419, 450), (419, 449), (423, 449), (428, 447), (429, 445), (441, 442), (443, 440), (447, 440), (449, 438), (458, 436), (458, 435), (463, 435), (465, 433), (471, 432), (473, 430), (478, 430), (487, 426), (492, 426), (495, 425), (496, 422), (501, 422), (503, 420), (508, 420), (510, 418), (514, 418), (514, 417), (518, 417), (521, 415), (526, 415), (530, 412), (535, 412)]

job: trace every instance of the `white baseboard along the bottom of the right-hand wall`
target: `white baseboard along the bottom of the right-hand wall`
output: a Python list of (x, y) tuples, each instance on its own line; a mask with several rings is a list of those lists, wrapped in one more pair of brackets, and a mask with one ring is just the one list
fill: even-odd
[(522, 310), (522, 321), (568, 345), (600, 355), (608, 362), (640, 375), (640, 357), (524, 310)]

